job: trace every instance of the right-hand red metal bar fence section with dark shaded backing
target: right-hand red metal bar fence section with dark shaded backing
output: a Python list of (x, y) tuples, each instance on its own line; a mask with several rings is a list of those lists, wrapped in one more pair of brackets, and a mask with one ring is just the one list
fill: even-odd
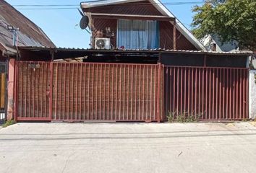
[(164, 114), (201, 120), (248, 118), (248, 69), (165, 67)]

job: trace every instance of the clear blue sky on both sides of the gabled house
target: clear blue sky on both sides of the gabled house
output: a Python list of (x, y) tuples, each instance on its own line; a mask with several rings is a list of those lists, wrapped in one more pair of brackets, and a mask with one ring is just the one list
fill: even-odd
[[(61, 48), (90, 48), (90, 34), (79, 27), (81, 15), (77, 9), (38, 9), (50, 7), (20, 5), (77, 5), (82, 0), (6, 0), (31, 21), (35, 22), (46, 35)], [(187, 27), (192, 22), (192, 6), (195, 4), (171, 5), (174, 2), (199, 2), (202, 0), (162, 0), (163, 4)], [(56, 6), (60, 7), (60, 6)], [(55, 7), (55, 8), (56, 8)], [(66, 7), (67, 6), (62, 6)], [(75, 8), (76, 6), (71, 6)], [(35, 9), (37, 8), (37, 9)], [(54, 7), (53, 7), (54, 8)]]

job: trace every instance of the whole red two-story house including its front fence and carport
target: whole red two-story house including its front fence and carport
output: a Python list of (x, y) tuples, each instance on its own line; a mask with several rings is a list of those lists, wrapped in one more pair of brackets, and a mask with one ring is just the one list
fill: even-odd
[(91, 49), (19, 47), (17, 121), (249, 119), (249, 53), (208, 52), (157, 0), (81, 7)]

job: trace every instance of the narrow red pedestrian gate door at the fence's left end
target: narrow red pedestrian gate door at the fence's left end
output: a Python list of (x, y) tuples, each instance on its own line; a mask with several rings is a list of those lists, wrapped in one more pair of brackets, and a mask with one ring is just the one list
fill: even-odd
[(51, 120), (51, 63), (17, 61), (17, 120)]

